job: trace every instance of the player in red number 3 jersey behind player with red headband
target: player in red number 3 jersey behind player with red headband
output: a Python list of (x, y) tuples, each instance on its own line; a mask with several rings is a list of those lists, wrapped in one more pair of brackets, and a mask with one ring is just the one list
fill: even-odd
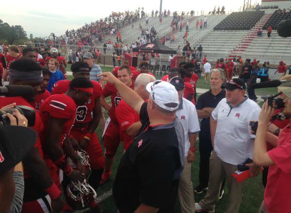
[[(74, 79), (84, 77), (89, 80), (90, 67), (87, 63), (76, 62), (72, 64), (71, 71)], [(91, 82), (93, 84), (92, 96), (85, 104), (77, 106), (76, 120), (70, 135), (71, 139), (76, 139), (80, 148), (89, 154), (91, 167), (89, 184), (96, 190), (104, 167), (102, 147), (95, 132), (101, 116), (100, 96), (102, 87), (96, 81)], [(69, 89), (69, 84), (70, 80), (58, 81), (52, 90), (52, 94), (65, 93)]]

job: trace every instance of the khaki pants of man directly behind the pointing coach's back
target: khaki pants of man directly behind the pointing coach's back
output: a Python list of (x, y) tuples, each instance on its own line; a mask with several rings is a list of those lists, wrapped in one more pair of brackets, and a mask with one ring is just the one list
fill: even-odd
[(191, 179), (191, 163), (184, 157), (184, 169), (178, 187), (178, 198), (182, 213), (195, 213), (194, 190)]

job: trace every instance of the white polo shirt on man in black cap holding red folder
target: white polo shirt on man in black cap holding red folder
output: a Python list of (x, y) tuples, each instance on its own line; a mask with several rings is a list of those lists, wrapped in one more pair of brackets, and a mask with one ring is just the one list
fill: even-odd
[(259, 105), (248, 98), (235, 107), (224, 98), (212, 111), (211, 117), (217, 121), (214, 151), (223, 162), (239, 165), (247, 158), (253, 159), (255, 135), (250, 132), (249, 122), (258, 121), (259, 112)]

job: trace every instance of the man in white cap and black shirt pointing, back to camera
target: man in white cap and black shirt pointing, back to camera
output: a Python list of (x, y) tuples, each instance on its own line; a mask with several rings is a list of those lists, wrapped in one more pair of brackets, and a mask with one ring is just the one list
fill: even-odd
[(146, 86), (146, 103), (111, 73), (112, 83), (123, 100), (140, 114), (142, 127), (122, 157), (113, 198), (120, 213), (172, 213), (184, 164), (184, 131), (176, 119), (179, 100), (175, 87), (161, 80)]

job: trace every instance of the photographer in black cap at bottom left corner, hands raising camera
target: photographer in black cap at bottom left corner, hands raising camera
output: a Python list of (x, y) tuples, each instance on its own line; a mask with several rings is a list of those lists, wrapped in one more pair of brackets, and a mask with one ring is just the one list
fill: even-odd
[[(14, 106), (15, 103), (0, 110)], [(26, 127), (28, 121), (17, 109), (6, 115), (10, 125), (0, 126), (0, 212), (20, 213), (24, 193), (21, 161), (32, 149), (37, 135)]]

